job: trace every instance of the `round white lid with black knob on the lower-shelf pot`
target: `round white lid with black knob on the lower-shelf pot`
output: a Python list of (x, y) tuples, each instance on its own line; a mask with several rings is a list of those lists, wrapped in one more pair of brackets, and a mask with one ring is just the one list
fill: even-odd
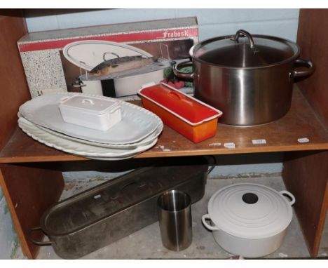
[(292, 206), (285, 196), (253, 183), (220, 189), (210, 198), (207, 210), (219, 229), (246, 239), (279, 234), (292, 220)]

